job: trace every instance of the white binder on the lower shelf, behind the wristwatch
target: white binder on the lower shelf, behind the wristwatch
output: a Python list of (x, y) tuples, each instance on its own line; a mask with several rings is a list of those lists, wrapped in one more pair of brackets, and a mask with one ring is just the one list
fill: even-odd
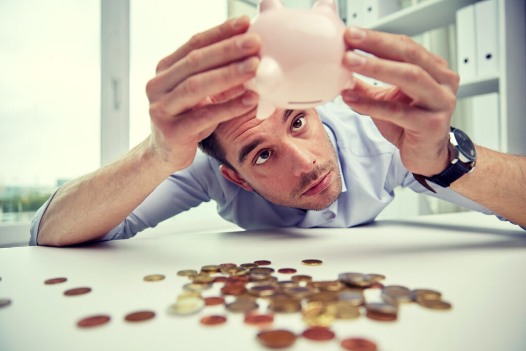
[(473, 143), (501, 151), (499, 94), (490, 93), (473, 96), (471, 104), (473, 131), (471, 138)]

